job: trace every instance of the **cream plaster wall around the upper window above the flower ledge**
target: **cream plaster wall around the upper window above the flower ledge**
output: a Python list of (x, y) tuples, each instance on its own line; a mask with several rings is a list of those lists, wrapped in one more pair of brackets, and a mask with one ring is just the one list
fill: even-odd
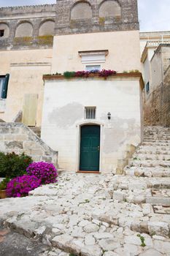
[(54, 37), (52, 73), (84, 70), (79, 51), (109, 50), (101, 68), (123, 72), (141, 69), (139, 31), (114, 31)]

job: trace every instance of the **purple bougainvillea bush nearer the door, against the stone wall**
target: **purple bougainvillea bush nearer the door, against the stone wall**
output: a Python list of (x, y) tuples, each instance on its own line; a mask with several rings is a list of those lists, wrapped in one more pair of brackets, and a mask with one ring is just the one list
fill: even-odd
[(28, 175), (34, 175), (41, 180), (41, 184), (50, 184), (57, 181), (58, 173), (49, 162), (33, 162), (26, 169)]

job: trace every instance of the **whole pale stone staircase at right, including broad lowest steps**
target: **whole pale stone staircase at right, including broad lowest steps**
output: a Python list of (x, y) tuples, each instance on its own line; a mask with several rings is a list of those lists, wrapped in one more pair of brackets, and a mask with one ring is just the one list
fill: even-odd
[(146, 127), (144, 142), (129, 160), (124, 174), (131, 177), (126, 189), (122, 189), (125, 180), (119, 184), (124, 200), (167, 206), (170, 210), (170, 128)]

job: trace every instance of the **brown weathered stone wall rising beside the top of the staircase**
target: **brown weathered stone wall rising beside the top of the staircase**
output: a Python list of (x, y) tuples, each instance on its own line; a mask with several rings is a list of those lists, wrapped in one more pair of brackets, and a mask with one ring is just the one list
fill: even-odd
[(144, 104), (144, 124), (170, 127), (170, 66)]

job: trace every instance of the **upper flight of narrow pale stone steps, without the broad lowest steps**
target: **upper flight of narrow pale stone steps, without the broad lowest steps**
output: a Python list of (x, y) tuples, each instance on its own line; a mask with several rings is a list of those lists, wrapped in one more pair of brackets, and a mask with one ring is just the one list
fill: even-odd
[(130, 176), (169, 177), (170, 128), (145, 127), (144, 142), (124, 172)]

